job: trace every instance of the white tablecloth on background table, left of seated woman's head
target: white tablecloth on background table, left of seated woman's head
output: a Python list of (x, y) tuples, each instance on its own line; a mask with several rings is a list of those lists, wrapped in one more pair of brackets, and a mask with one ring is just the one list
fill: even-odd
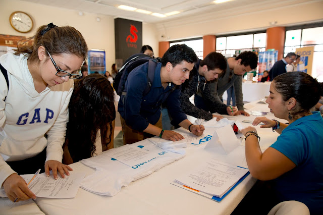
[[(270, 81), (256, 83), (242, 82), (243, 101), (251, 102), (268, 96), (271, 83)], [(227, 97), (227, 91), (225, 91), (222, 98), (227, 100)]]

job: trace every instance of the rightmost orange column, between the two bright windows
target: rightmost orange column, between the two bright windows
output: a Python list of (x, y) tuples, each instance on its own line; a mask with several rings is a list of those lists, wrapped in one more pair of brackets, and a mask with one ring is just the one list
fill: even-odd
[(267, 29), (266, 49), (278, 50), (278, 60), (284, 58), (285, 27), (274, 27)]

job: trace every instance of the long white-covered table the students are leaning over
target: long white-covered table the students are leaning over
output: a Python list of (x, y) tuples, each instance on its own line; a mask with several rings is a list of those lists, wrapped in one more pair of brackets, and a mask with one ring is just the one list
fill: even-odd
[[(252, 110), (269, 111), (266, 104), (257, 103), (249, 105), (249, 111)], [(273, 119), (271, 113), (267, 114), (267, 117)], [(244, 119), (253, 120), (254, 118), (255, 116), (230, 116), (229, 119), (239, 119), (241, 122)], [(194, 118), (190, 117), (190, 120), (194, 122)], [(260, 146), (263, 150), (277, 139), (278, 134), (272, 132), (271, 129), (260, 129), (259, 126), (256, 128), (261, 136)], [(212, 133), (214, 128), (206, 128), (205, 131)], [(141, 143), (140, 141), (134, 144)], [(113, 197), (93, 194), (80, 188), (75, 198), (38, 197), (35, 202), (45, 214), (230, 214), (256, 182), (251, 175), (248, 175), (221, 202), (210, 200), (171, 184), (176, 176), (189, 172), (203, 160), (211, 157), (232, 165), (247, 167), (243, 142), (230, 154), (225, 154), (221, 150), (210, 152), (203, 148), (204, 146), (188, 144), (185, 157), (130, 183)], [(94, 169), (80, 162), (72, 164), (71, 167), (73, 168), (71, 174), (85, 172), (89, 175), (95, 172)]]

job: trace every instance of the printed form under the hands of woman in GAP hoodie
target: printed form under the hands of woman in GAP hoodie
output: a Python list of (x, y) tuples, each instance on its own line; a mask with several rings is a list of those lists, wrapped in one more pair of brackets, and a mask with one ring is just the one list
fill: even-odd
[[(28, 183), (34, 174), (20, 176)], [(55, 180), (51, 174), (47, 177), (45, 173), (42, 173), (38, 174), (28, 187), (36, 197), (74, 198), (84, 176), (85, 173), (70, 172), (70, 175), (65, 176), (65, 179), (58, 176), (58, 179)], [(0, 197), (7, 197), (5, 189), (0, 190)]]

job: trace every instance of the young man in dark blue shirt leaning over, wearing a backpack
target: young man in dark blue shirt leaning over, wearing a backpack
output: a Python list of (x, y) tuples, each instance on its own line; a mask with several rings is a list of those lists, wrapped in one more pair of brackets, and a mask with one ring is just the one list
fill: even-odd
[(189, 78), (197, 57), (192, 48), (185, 44), (173, 45), (157, 63), (152, 86), (146, 88), (148, 63), (133, 69), (125, 84), (125, 93), (119, 100), (124, 144), (131, 144), (154, 135), (166, 140), (182, 140), (184, 137), (174, 131), (161, 129), (160, 104), (166, 102), (173, 118), (173, 125), (179, 125), (197, 136), (204, 126), (193, 125), (181, 109), (181, 84)]

